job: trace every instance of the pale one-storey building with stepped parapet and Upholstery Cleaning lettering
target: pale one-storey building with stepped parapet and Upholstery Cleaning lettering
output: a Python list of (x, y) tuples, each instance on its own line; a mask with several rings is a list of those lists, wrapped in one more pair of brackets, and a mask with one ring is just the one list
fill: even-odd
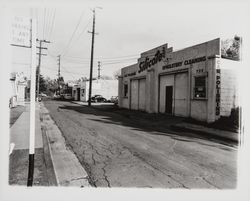
[(238, 106), (240, 64), (221, 58), (219, 38), (178, 51), (164, 44), (121, 69), (119, 106), (214, 122)]

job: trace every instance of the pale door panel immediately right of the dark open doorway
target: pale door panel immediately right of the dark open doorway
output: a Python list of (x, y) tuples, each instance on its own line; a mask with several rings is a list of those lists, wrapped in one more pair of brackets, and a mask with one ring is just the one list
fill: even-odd
[(188, 95), (188, 74), (175, 74), (175, 95), (174, 95), (174, 114), (177, 116), (188, 116), (187, 95)]

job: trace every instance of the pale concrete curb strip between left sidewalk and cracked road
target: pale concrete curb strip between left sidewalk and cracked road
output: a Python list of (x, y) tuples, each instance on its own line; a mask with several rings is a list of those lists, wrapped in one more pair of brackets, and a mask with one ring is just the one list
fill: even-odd
[(44, 120), (44, 130), (57, 185), (91, 187), (87, 179), (87, 172), (82, 167), (75, 154), (66, 147), (65, 139), (60, 129), (49, 115), (46, 107), (43, 104), (42, 107), (41, 113)]

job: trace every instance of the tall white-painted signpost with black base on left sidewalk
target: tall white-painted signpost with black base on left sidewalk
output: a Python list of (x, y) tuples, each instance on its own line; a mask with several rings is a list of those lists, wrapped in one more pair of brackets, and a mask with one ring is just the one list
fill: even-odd
[(32, 186), (35, 154), (35, 110), (36, 110), (36, 20), (31, 19), (31, 83), (30, 83), (30, 138), (29, 138), (29, 172), (27, 186)]

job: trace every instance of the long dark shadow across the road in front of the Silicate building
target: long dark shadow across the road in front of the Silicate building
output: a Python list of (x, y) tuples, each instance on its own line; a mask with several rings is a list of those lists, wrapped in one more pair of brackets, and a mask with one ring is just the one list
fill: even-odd
[[(73, 105), (69, 102), (61, 102), (63, 106), (59, 106), (58, 110), (73, 110), (81, 114), (94, 115), (88, 117), (91, 121), (101, 122), (105, 124), (116, 124), (130, 127), (133, 130), (147, 132), (148, 135), (169, 136), (173, 139), (186, 142), (196, 142), (207, 146), (204, 140), (215, 141), (220, 144), (234, 146), (232, 142), (227, 140), (216, 139), (210, 135), (199, 135), (190, 132), (178, 132), (171, 130), (171, 125), (180, 123), (185, 120), (182, 117), (174, 117), (164, 114), (149, 114), (141, 111), (132, 111), (119, 108), (115, 105), (95, 105), (92, 107), (84, 105)], [(197, 139), (202, 139), (203, 141)], [(221, 147), (220, 147), (221, 148)]]

